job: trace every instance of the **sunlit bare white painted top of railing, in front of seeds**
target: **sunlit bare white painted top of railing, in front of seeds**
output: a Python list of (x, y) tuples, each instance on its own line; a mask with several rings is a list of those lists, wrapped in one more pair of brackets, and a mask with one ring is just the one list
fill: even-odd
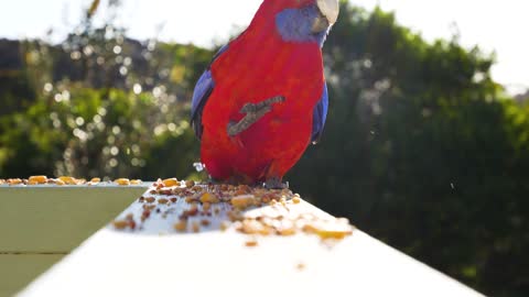
[(104, 228), (20, 296), (482, 296), (359, 230), (333, 246), (296, 234), (248, 248), (248, 235), (217, 230), (223, 219), (176, 233), (184, 207), (161, 206), (141, 231)]

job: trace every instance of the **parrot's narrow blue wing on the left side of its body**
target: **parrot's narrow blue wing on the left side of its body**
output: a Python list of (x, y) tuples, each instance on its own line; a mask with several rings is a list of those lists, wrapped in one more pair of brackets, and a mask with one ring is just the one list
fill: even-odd
[[(213, 56), (213, 61), (210, 64), (213, 64), (218, 56), (226, 52), (226, 50), (228, 50), (228, 45), (224, 45), (223, 47), (220, 47), (220, 50), (218, 50), (215, 56)], [(202, 111), (204, 110), (207, 99), (209, 98), (213, 89), (215, 88), (215, 81), (212, 77), (210, 64), (196, 82), (195, 89), (193, 91), (193, 99), (191, 101), (191, 124), (193, 125), (193, 129), (195, 130), (195, 135), (198, 139), (202, 138), (203, 130)]]

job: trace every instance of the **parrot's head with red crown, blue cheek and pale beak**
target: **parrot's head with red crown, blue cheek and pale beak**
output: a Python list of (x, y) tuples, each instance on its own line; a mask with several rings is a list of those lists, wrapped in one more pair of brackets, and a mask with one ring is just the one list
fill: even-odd
[(264, 0), (253, 20), (273, 22), (283, 41), (322, 46), (338, 13), (338, 0)]

